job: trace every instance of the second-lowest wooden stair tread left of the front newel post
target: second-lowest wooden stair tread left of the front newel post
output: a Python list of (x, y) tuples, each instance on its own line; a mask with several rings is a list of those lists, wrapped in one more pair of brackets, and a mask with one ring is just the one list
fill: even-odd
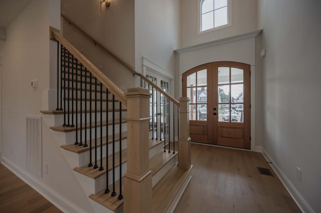
[[(94, 158), (94, 156), (93, 156)], [(121, 162), (125, 163), (127, 162), (127, 149), (124, 149), (121, 151)], [(93, 165), (95, 164), (92, 162)], [(100, 160), (97, 160), (98, 166), (100, 166)], [(115, 167), (119, 165), (119, 152), (115, 153)], [(92, 166), (89, 167), (88, 165), (84, 165), (82, 167), (76, 167), (74, 168), (74, 171), (77, 171), (81, 174), (84, 174), (90, 178), (96, 179), (100, 177), (101, 175), (106, 173), (106, 157), (102, 160), (102, 166), (104, 167), (104, 170), (99, 171), (98, 168), (94, 169)], [(112, 155), (108, 155), (108, 171), (112, 170)]]

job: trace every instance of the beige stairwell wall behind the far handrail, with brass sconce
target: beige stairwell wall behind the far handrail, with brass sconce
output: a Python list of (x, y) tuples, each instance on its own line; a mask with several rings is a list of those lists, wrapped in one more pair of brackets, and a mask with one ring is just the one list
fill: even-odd
[[(134, 68), (134, 1), (111, 0), (108, 9), (105, 3), (101, 5), (100, 12), (100, 0), (62, 0), (61, 11), (87, 34)], [(83, 49), (83, 54), (94, 65), (102, 66), (101, 71), (116, 85), (125, 86), (125, 90), (133, 87), (134, 77), (128, 69), (66, 21), (63, 21), (63, 36), (78, 50)]]

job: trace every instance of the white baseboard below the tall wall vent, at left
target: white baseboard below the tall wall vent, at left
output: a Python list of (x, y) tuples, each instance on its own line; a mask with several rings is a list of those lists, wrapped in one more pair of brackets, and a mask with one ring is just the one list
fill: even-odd
[(46, 199), (48, 199), (51, 203), (53, 203), (57, 208), (59, 208), (63, 212), (86, 212), (85, 210), (68, 200), (66, 197), (62, 196), (61, 194), (44, 184), (43, 182), (38, 182), (28, 174), (23, 173), (15, 163), (11, 162), (6, 157), (1, 158), (1, 163), (4, 164), (19, 178), (25, 181), (33, 189), (38, 191), (41, 195), (43, 195)]

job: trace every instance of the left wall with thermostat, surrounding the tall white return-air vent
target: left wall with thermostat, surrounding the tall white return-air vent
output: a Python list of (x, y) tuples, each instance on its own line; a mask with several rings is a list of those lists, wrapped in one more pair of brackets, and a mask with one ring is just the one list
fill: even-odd
[[(48, 174), (38, 177), (26, 166), (26, 115), (41, 116), (42, 94), (49, 89), (51, 42), (49, 25), (60, 28), (57, 0), (33, 0), (8, 26), (2, 57), (2, 162), (37, 185), (51, 191), (47, 197), (57, 197), (76, 203), (84, 211), (93, 209), (79, 186), (72, 169), (62, 155), (46, 123), (43, 123), (43, 162)], [(58, 8), (58, 10), (57, 10)], [(38, 79), (38, 88), (30, 81)], [(46, 102), (48, 100), (45, 100)], [(45, 108), (46, 109), (46, 108)], [(59, 199), (59, 198), (58, 198)], [(57, 204), (57, 203), (55, 203)]]

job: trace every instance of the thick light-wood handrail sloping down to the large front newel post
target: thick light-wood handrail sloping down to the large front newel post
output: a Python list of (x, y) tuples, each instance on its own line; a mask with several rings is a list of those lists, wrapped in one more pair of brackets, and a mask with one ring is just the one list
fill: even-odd
[(79, 62), (81, 62), (88, 71), (90, 71), (115, 97), (127, 106), (127, 98), (124, 92), (118, 88), (104, 73), (102, 73), (94, 64), (92, 64), (83, 54), (80, 53), (71, 43), (54, 28), (50, 27), (51, 38), (58, 40), (68, 51), (73, 54)]

